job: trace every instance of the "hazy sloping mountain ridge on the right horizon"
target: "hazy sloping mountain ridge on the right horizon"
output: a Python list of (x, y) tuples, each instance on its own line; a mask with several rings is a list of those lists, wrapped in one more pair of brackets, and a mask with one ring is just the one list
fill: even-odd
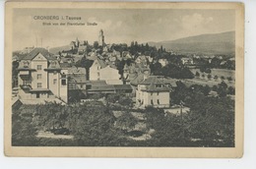
[(157, 48), (162, 45), (166, 50), (173, 50), (183, 54), (234, 54), (235, 31), (222, 33), (201, 34), (179, 38), (176, 40), (148, 42)]

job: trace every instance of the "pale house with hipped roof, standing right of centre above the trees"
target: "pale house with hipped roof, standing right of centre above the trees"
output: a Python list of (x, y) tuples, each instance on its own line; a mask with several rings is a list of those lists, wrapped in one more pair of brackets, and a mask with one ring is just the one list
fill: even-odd
[(140, 108), (147, 106), (169, 107), (171, 84), (163, 77), (150, 76), (139, 83), (136, 88), (136, 105)]

